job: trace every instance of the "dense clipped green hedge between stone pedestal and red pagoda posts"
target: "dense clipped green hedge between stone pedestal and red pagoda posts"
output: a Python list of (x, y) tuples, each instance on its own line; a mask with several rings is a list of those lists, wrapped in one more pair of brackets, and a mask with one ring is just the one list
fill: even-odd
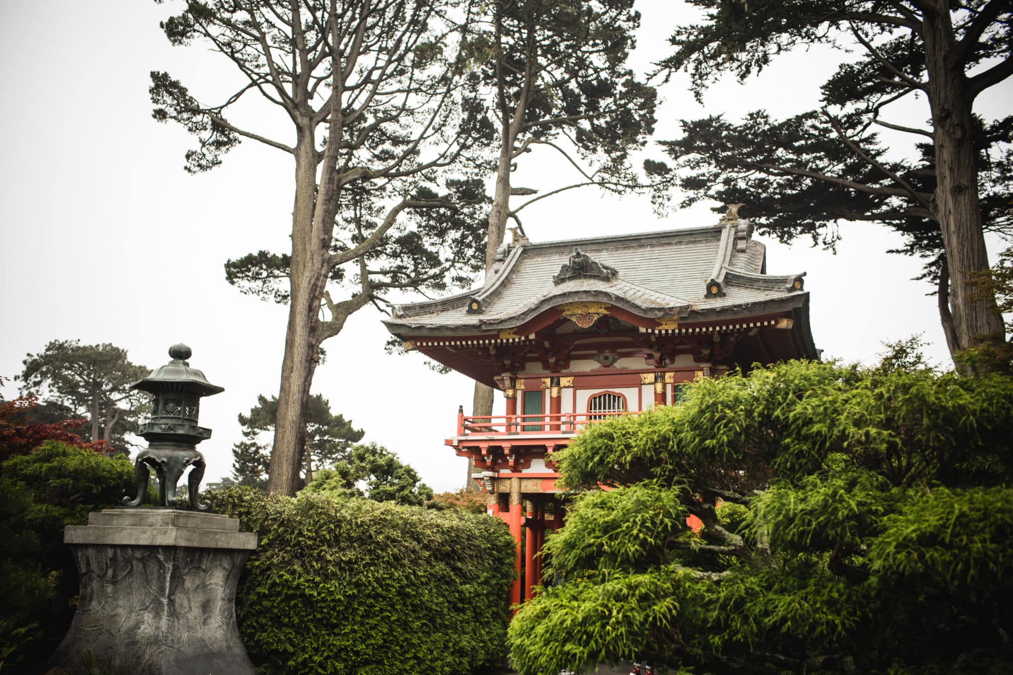
[(468, 673), (502, 658), (514, 539), (501, 521), (232, 488), (213, 508), (259, 537), (236, 599), (266, 673)]

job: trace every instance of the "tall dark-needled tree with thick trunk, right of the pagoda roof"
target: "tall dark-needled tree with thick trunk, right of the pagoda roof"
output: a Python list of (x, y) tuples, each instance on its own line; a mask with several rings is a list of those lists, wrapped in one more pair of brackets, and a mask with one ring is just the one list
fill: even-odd
[[(937, 261), (940, 317), (953, 351), (1001, 335), (995, 300), (976, 274), (988, 269), (984, 233), (1009, 233), (1009, 143), (1013, 118), (979, 120), (976, 98), (1013, 74), (1005, 0), (690, 0), (702, 23), (679, 27), (661, 65), (687, 70), (700, 98), (723, 73), (745, 80), (779, 53), (816, 44), (855, 47), (823, 87), (823, 108), (784, 121), (763, 111), (743, 124), (720, 117), (684, 123), (669, 144), (683, 187), (698, 196), (756, 203), (754, 215), (782, 239), (827, 239), (837, 220), (884, 222), (909, 234), (911, 250)], [(890, 104), (920, 96), (922, 119)], [(924, 145), (888, 161), (875, 130)], [(766, 195), (766, 196), (765, 196)], [(781, 213), (778, 217), (775, 209)], [(794, 219), (797, 224), (790, 221)], [(830, 236), (833, 239), (833, 235)]]

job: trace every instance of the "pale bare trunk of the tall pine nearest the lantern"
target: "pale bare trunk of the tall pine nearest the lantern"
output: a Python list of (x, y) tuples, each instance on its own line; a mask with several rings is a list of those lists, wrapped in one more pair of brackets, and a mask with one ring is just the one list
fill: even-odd
[[(308, 137), (308, 138), (307, 138)], [(267, 492), (292, 496), (299, 483), (310, 385), (319, 347), (321, 255), (326, 245), (313, 237), (316, 153), (311, 134), (300, 132), (296, 148), (296, 196), (292, 210), (289, 324), (285, 333), (278, 419), (270, 451)], [(329, 243), (329, 239), (328, 239)], [(326, 279), (324, 279), (326, 281)]]

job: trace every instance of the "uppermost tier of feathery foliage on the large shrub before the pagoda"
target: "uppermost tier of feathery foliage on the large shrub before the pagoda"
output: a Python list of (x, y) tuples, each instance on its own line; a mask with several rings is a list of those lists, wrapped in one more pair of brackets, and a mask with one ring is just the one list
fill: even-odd
[(1013, 384), (1001, 375), (791, 362), (705, 379), (680, 405), (596, 424), (558, 461), (569, 488), (689, 480), (720, 496), (830, 460), (911, 485), (960, 480), (984, 456), (1008, 466), (1011, 419)]

